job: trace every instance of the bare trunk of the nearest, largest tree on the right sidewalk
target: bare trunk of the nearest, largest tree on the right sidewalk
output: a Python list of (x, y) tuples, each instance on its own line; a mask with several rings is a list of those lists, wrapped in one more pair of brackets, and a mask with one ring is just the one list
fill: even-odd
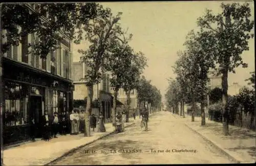
[(228, 135), (228, 122), (229, 122), (229, 112), (227, 108), (227, 89), (228, 89), (228, 83), (227, 83), (227, 77), (228, 77), (228, 70), (225, 69), (222, 75), (222, 104), (224, 107), (223, 110), (223, 133), (224, 135)]

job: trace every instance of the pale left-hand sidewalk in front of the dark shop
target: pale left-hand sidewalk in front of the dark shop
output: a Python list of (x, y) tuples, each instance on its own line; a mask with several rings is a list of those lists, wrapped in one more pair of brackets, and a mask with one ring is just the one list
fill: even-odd
[[(140, 119), (129, 118), (129, 123), (124, 123), (125, 127), (131, 126)], [(106, 132), (91, 131), (90, 137), (78, 135), (59, 135), (49, 142), (37, 140), (32, 143), (20, 145), (18, 147), (4, 150), (5, 165), (45, 165), (70, 151), (74, 151), (82, 146), (93, 143), (94, 141), (108, 136), (114, 132), (112, 123), (105, 124)]]

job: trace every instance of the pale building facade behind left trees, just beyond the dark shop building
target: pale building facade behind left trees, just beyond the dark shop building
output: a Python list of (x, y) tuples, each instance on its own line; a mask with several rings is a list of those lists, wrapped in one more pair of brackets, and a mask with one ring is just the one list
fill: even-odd
[[(87, 98), (88, 89), (86, 81), (83, 80), (86, 70), (87, 66), (85, 63), (73, 62), (74, 100), (84, 100)], [(98, 115), (102, 111), (105, 123), (111, 121), (111, 108), (113, 105), (109, 78), (109, 73), (104, 73), (102, 81), (93, 86), (93, 101), (98, 100), (100, 107), (98, 109), (94, 108), (92, 113)]]

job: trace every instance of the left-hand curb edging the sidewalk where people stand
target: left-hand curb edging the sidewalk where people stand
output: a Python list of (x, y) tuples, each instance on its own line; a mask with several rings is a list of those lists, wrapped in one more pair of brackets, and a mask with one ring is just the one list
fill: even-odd
[[(135, 123), (132, 123), (132, 124), (130, 124), (130, 125), (125, 126), (124, 128), (129, 127), (129, 126), (132, 126), (132, 125), (134, 125), (134, 124), (135, 124)], [(110, 133), (108, 133), (108, 134), (105, 134), (105, 135), (102, 135), (102, 136), (98, 137), (97, 139), (94, 139), (94, 140), (92, 140), (92, 141), (90, 141), (90, 142), (88, 142), (88, 143), (86, 143), (86, 144), (84, 144), (84, 145), (80, 145), (80, 146), (78, 146), (78, 147), (75, 147), (75, 148), (69, 150), (68, 152), (65, 152), (65, 153), (62, 154), (61, 156), (56, 157), (55, 159), (51, 160), (50, 162), (48, 162), (48, 163), (46, 163), (46, 164), (44, 164), (44, 165), (51, 165), (51, 163), (53, 163), (53, 162), (55, 162), (55, 161), (57, 161), (57, 160), (59, 160), (59, 159), (65, 157), (65, 156), (69, 155), (70, 153), (76, 151), (77, 149), (80, 149), (80, 148), (83, 148), (83, 147), (85, 147), (85, 146), (87, 146), (87, 145), (90, 145), (90, 144), (94, 143), (95, 141), (97, 141), (97, 140), (99, 140), (99, 139), (102, 139), (102, 138), (104, 138), (104, 137), (107, 137), (107, 136), (109, 136), (109, 135), (111, 135), (111, 134), (114, 134), (114, 133), (115, 133), (115, 131), (112, 131), (112, 132), (110, 132)]]

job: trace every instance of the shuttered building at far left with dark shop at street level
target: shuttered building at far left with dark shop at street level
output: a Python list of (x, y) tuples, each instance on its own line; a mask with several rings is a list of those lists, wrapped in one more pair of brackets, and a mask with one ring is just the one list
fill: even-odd
[[(35, 5), (27, 7), (36, 9)], [(60, 48), (52, 50), (46, 59), (30, 54), (28, 45), (39, 41), (36, 34), (26, 35), (22, 43), (11, 45), (2, 55), (4, 144), (29, 139), (32, 118), (40, 129), (40, 116), (45, 110), (52, 116), (54, 112), (72, 110), (72, 41), (65, 34), (59, 35), (63, 38)], [(2, 38), (3, 43), (6, 41), (8, 38)]]

